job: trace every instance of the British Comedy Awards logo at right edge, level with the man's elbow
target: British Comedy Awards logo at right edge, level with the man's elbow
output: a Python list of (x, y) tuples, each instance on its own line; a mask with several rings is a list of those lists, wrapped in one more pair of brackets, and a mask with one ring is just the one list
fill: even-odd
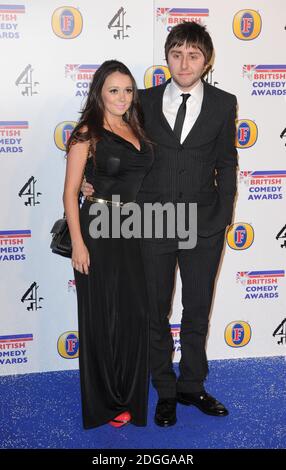
[[(285, 198), (286, 170), (240, 171), (248, 201), (277, 201)], [(242, 186), (243, 187), (243, 186)]]

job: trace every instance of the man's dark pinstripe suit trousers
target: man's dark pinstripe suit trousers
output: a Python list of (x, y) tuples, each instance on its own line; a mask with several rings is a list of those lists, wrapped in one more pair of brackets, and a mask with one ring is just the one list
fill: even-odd
[[(213, 290), (225, 231), (198, 237), (193, 249), (178, 249), (178, 241), (142, 240), (150, 302), (150, 368), (160, 398), (176, 392), (204, 390), (208, 373), (206, 338)], [(173, 369), (173, 339), (169, 314), (177, 265), (182, 280), (181, 360), (179, 377)]]

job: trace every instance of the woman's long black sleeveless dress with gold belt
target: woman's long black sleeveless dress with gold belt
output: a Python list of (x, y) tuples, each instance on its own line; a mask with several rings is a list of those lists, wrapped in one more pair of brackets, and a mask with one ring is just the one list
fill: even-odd
[[(152, 152), (142, 141), (137, 150), (113, 132), (103, 131), (96, 164), (88, 158), (86, 179), (94, 197), (121, 202), (136, 199)], [(138, 238), (93, 238), (92, 202), (85, 200), (80, 225), (90, 255), (89, 274), (74, 270), (79, 323), (79, 364), (83, 425), (100, 426), (123, 411), (132, 423), (146, 425), (149, 383), (148, 300)], [(112, 229), (111, 206), (109, 212)], [(114, 209), (113, 209), (114, 210)], [(126, 215), (120, 213), (121, 222)]]

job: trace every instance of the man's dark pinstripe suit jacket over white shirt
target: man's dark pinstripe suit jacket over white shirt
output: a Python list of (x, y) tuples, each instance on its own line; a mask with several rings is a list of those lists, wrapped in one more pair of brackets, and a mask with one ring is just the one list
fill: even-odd
[(163, 85), (140, 90), (145, 129), (155, 143), (154, 164), (137, 201), (198, 204), (198, 235), (231, 223), (236, 193), (236, 97), (203, 81), (200, 115), (180, 144), (162, 110)]

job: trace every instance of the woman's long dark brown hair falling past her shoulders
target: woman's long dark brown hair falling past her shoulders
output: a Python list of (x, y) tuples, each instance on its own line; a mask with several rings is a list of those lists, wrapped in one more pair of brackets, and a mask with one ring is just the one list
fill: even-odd
[(101, 139), (103, 134), (104, 104), (102, 101), (102, 87), (106, 78), (114, 72), (128, 75), (132, 82), (133, 100), (128, 112), (123, 115), (123, 120), (131, 127), (137, 139), (143, 139), (146, 142), (151, 143), (143, 129), (143, 113), (139, 103), (138, 89), (133, 75), (128, 67), (126, 67), (122, 62), (117, 60), (106, 60), (97, 69), (93, 76), (87, 101), (81, 111), (81, 117), (66, 144), (67, 153), (73, 144), (89, 141), (90, 153), (95, 155), (96, 142)]

